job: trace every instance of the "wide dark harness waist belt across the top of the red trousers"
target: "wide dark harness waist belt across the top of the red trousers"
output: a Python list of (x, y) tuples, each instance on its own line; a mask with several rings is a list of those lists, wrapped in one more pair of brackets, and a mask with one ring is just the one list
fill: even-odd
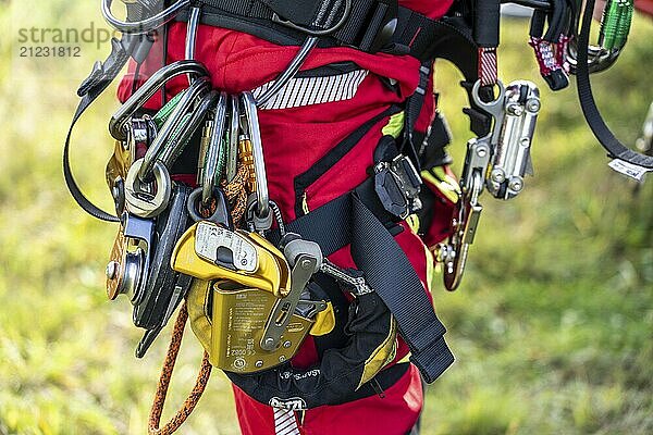
[[(245, 32), (283, 46), (299, 46), (304, 29), (324, 30), (343, 17), (343, 0), (197, 0), (201, 23)], [(188, 21), (182, 11), (178, 21)], [(288, 23), (291, 26), (288, 26)], [(342, 26), (320, 38), (320, 47), (345, 46), (365, 52), (409, 54), (420, 61), (432, 59), (435, 44), (451, 33), (446, 20), (431, 20), (396, 0), (352, 0)], [(470, 36), (471, 37), (471, 36)]]

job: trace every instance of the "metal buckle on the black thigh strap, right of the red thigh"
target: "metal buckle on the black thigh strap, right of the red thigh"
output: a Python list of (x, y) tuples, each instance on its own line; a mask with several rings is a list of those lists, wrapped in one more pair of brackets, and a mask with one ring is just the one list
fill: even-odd
[(383, 208), (402, 220), (421, 209), (421, 184), (415, 165), (404, 154), (374, 166), (374, 190)]

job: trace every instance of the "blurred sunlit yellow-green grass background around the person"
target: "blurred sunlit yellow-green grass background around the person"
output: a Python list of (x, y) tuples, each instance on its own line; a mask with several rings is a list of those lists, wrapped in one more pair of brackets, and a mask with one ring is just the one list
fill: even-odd
[[(20, 5), (20, 8), (19, 8)], [(115, 227), (73, 203), (61, 148), (74, 90), (99, 49), (81, 59), (19, 58), (22, 27), (102, 27), (97, 2), (0, 1), (0, 434), (145, 433), (165, 340), (144, 360), (123, 298), (108, 303), (103, 269)], [(504, 82), (542, 90), (535, 177), (510, 202), (485, 196), (461, 288), (434, 290), (456, 364), (429, 388), (424, 434), (653, 433), (653, 185), (613, 173), (574, 88), (539, 78), (528, 25), (507, 21)], [(8, 34), (9, 33), (9, 34)], [(595, 77), (617, 136), (633, 142), (653, 99), (653, 24), (638, 17), (623, 59)], [(448, 65), (438, 72), (460, 163), (470, 134)], [(107, 209), (107, 92), (75, 135), (73, 166)], [(459, 171), (459, 166), (457, 166)], [(189, 335), (189, 337), (192, 337)], [(200, 360), (186, 339), (173, 377), (177, 406)], [(170, 413), (170, 410), (169, 412)], [(214, 373), (185, 434), (236, 434), (229, 383)]]

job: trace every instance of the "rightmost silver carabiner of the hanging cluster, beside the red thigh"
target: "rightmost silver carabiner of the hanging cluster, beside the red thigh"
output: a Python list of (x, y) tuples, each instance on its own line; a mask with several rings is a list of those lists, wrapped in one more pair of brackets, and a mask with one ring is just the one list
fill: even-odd
[(263, 159), (263, 144), (258, 122), (256, 100), (251, 92), (243, 92), (243, 105), (247, 120), (247, 129), (251, 139), (251, 153), (254, 157), (254, 169), (256, 173), (256, 212), (259, 217), (270, 213), (270, 195), (268, 192), (268, 176), (266, 174), (266, 161)]

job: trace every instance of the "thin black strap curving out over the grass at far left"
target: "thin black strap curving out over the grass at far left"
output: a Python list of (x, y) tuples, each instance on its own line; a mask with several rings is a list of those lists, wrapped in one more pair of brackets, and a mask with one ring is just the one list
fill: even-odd
[(100, 94), (107, 89), (107, 87), (111, 84), (111, 82), (113, 82), (128, 60), (130, 52), (125, 49), (123, 44), (118, 41), (115, 38), (112, 39), (111, 54), (109, 54), (109, 58), (107, 58), (104, 63), (100, 64), (98, 62), (94, 65), (93, 73), (86, 80), (84, 80), (79, 87), (79, 90), (77, 91), (82, 97), (82, 101), (79, 101), (79, 104), (75, 110), (73, 121), (71, 122), (71, 127), (69, 128), (69, 133), (65, 138), (65, 145), (63, 146), (63, 176), (65, 178), (65, 184), (73, 196), (73, 199), (88, 214), (107, 222), (120, 222), (120, 220), (90, 202), (75, 182), (70, 162), (71, 137), (73, 135), (73, 128), (75, 128), (75, 124), (77, 124), (77, 121), (82, 114), (100, 96)]

